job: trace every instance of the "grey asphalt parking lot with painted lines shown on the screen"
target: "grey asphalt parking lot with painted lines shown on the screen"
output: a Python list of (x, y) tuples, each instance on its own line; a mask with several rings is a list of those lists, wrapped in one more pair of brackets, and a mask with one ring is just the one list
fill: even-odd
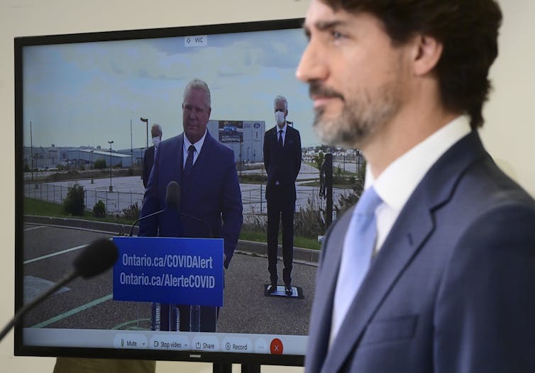
[[(23, 276), (26, 292), (35, 286), (57, 282), (72, 269), (72, 261), (84, 245), (112, 234), (75, 227), (25, 223)], [(282, 263), (281, 263), (282, 265)], [(280, 269), (282, 271), (282, 268)], [(294, 285), (304, 299), (265, 297), (267, 259), (237, 252), (225, 271), (224, 307), (219, 330), (232, 333), (307, 333), (314, 293), (316, 267), (294, 263)], [(150, 304), (113, 301), (111, 270), (93, 279), (77, 279), (24, 318), (24, 326), (37, 328), (148, 329)]]

